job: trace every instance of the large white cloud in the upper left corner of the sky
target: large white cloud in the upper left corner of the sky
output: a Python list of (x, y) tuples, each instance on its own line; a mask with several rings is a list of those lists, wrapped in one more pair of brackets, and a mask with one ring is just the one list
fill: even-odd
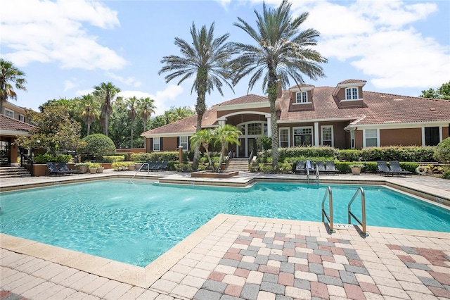
[(3, 54), (18, 66), (56, 62), (61, 68), (113, 70), (126, 65), (122, 56), (97, 42), (84, 23), (111, 29), (117, 12), (96, 1), (16, 0), (0, 12)]

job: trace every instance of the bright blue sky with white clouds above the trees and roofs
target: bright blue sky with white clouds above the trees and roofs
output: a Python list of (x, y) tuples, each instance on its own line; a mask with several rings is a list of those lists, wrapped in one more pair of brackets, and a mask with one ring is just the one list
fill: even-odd
[[(301, 30), (320, 32), (314, 47), (328, 59), (326, 77), (304, 82), (335, 87), (366, 80), (364, 90), (419, 96), (450, 80), (450, 1), (291, 0), (293, 16), (309, 12)], [(266, 0), (275, 7), (281, 0)], [(50, 99), (89, 94), (113, 82), (124, 98), (155, 100), (156, 114), (195, 106), (193, 79), (165, 82), (158, 75), (164, 56), (180, 55), (175, 37), (191, 42), (193, 23), (215, 24), (214, 37), (255, 44), (233, 25), (243, 18), (256, 27), (262, 0), (86, 1), (6, 0), (0, 11), (0, 57), (25, 73), (27, 92), (13, 104), (38, 110)], [(264, 95), (262, 84), (248, 91), (249, 77), (224, 95), (206, 96), (208, 107), (245, 94)], [(290, 86), (295, 85), (292, 81)]]

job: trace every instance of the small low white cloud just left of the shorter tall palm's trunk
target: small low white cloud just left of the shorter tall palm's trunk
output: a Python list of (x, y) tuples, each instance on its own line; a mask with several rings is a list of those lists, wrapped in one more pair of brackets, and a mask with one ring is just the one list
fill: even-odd
[(141, 91), (122, 91), (117, 96), (122, 96), (123, 98), (130, 98), (136, 96), (136, 98), (146, 98), (155, 100), (155, 115), (162, 115), (165, 111), (169, 110), (169, 101), (176, 99), (177, 96), (183, 93), (183, 88), (179, 85), (167, 85), (166, 89), (156, 92), (156, 94), (150, 94), (148, 92)]

